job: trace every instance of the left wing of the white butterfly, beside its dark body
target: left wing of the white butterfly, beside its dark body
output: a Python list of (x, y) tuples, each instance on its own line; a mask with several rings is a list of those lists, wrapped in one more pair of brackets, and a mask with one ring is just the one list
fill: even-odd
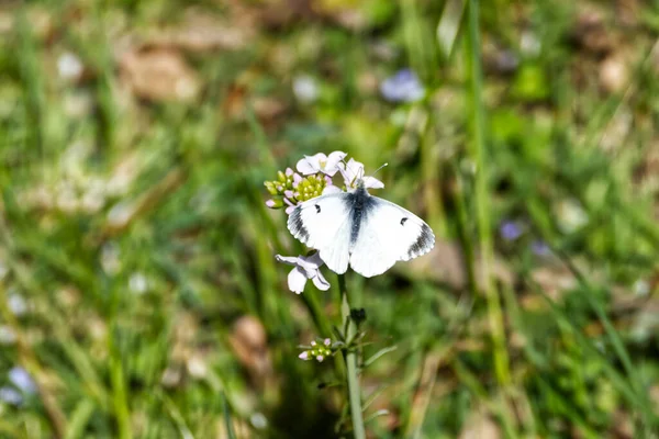
[(298, 205), (288, 218), (291, 234), (320, 251), (336, 273), (345, 273), (350, 258), (350, 210), (347, 193), (317, 196)]

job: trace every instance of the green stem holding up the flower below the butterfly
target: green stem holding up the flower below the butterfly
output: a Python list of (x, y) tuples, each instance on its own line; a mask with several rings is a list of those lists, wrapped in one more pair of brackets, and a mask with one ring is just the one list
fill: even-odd
[[(350, 319), (350, 305), (348, 304), (348, 290), (343, 274), (338, 275), (338, 285), (340, 289), (340, 317), (342, 323), (347, 322), (347, 330), (344, 334), (347, 341), (351, 340), (357, 334), (357, 327)], [(343, 326), (343, 325), (342, 325)], [(350, 401), (350, 417), (353, 419), (353, 432), (355, 439), (365, 439), (364, 419), (361, 417), (361, 392), (359, 389), (359, 378), (357, 376), (357, 352), (354, 350), (344, 351), (347, 369), (348, 396)]]

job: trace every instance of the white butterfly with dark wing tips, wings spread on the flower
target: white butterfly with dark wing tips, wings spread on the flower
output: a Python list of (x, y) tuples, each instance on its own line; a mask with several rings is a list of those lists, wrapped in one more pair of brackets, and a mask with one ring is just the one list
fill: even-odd
[(298, 205), (288, 218), (291, 234), (336, 273), (348, 269), (370, 278), (399, 260), (431, 251), (435, 235), (412, 212), (372, 196), (362, 179), (353, 192), (332, 193)]

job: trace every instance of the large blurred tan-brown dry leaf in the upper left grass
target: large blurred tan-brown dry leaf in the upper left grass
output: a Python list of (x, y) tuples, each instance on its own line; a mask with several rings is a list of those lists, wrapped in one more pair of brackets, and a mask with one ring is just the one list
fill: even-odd
[(148, 101), (189, 101), (201, 80), (183, 56), (168, 48), (129, 50), (119, 60), (121, 79), (133, 94)]

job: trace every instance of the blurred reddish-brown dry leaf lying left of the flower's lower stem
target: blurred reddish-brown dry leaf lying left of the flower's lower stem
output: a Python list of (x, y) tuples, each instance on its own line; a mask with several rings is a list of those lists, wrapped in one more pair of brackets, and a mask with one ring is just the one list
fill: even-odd
[(264, 325), (253, 316), (238, 318), (228, 336), (228, 344), (238, 361), (259, 384), (272, 372), (267, 341)]

